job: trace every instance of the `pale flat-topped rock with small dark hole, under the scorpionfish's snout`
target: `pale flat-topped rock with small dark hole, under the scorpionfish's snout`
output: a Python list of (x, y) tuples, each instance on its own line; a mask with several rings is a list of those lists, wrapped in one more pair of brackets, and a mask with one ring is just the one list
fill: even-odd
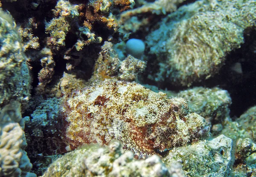
[(227, 177), (232, 166), (232, 140), (220, 135), (169, 151), (163, 163), (181, 163), (186, 176)]

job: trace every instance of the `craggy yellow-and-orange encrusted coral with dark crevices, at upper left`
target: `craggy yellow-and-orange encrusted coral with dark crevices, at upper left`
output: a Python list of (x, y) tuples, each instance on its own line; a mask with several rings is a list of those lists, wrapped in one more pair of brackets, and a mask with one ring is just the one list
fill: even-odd
[[(110, 40), (119, 28), (116, 11), (132, 8), (134, 1), (25, 0), (14, 3), (13, 8), (10, 6), (6, 3), (5, 8), (18, 21), (30, 69), (35, 77), (38, 76), (36, 92), (48, 97), (73, 90), (67, 88), (71, 85), (63, 85), (75, 82), (67, 79), (78, 82), (90, 79), (102, 40)], [(27, 13), (23, 14), (24, 11)], [(65, 81), (60, 88), (61, 80)]]

